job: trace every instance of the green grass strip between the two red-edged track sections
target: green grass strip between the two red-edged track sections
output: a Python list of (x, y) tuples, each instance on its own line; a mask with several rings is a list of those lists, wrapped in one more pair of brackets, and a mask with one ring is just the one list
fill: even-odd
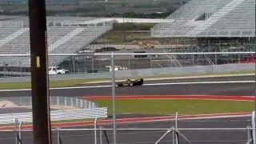
[[(108, 107), (112, 114), (112, 102), (96, 100), (99, 106)], [(116, 114), (216, 114), (250, 112), (254, 102), (230, 102), (216, 100), (116, 100)]]

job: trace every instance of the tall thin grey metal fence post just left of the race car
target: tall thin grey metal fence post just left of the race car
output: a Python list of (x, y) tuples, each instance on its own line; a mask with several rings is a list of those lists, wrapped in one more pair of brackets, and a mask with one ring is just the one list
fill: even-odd
[(114, 53), (111, 54), (111, 77), (112, 77), (112, 111), (113, 111), (113, 141), (116, 144), (116, 126), (115, 126), (115, 78), (114, 78)]

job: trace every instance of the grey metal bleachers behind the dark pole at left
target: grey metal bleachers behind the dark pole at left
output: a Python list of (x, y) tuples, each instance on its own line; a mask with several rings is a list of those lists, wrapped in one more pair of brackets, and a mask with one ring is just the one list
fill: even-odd
[[(5, 18), (3, 18), (5, 19)], [(6, 18), (0, 22), (0, 53), (30, 54), (27, 17)], [(91, 23), (95, 18), (47, 17), (49, 54), (71, 54), (81, 50), (112, 29), (112, 22)], [(88, 22), (88, 24), (87, 24)], [(58, 66), (66, 57), (50, 57), (49, 65)], [(30, 58), (2, 57), (0, 66), (30, 67)]]

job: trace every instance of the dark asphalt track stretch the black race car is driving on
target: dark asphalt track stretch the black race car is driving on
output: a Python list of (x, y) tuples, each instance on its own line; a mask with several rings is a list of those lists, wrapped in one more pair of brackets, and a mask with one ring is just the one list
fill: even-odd
[[(255, 81), (254, 76), (246, 77), (229, 77), (229, 78), (191, 78), (191, 79), (176, 79), (176, 80), (159, 80), (149, 81), (150, 83), (172, 83), (172, 82), (226, 82), (226, 81)], [(88, 84), (83, 86), (94, 86)], [(97, 84), (100, 86), (109, 85)], [(50, 96), (110, 96), (111, 87), (96, 87), (96, 88), (73, 88), (73, 89), (56, 89), (50, 90)], [(208, 83), (208, 84), (185, 84), (185, 85), (162, 85), (162, 86), (133, 86), (133, 87), (118, 87), (116, 95), (238, 95), (238, 96), (254, 96), (255, 82), (244, 83)], [(22, 91), (6, 91), (0, 92), (1, 97), (19, 97), (30, 96), (30, 90)]]

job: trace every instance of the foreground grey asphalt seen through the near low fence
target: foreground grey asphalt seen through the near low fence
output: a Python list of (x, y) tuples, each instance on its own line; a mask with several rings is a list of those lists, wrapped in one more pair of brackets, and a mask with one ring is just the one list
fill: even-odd
[[(217, 118), (217, 119), (201, 119), (201, 120), (182, 120), (178, 122), (179, 128), (245, 128), (250, 125), (249, 117), (244, 118)], [(174, 126), (174, 122), (148, 122), (139, 124), (118, 125), (117, 128), (170, 128)], [(110, 128), (109, 126), (104, 126)], [(79, 127), (92, 128), (92, 127)], [(166, 130), (117, 130), (117, 143), (126, 144), (148, 144), (154, 143), (164, 134)], [(247, 130), (181, 130), (192, 143), (197, 144), (245, 144), (247, 140)], [(61, 131), (62, 144), (66, 143), (94, 143), (94, 130), (69, 130)], [(113, 142), (112, 130), (106, 130), (106, 134)], [(0, 132), (1, 143), (14, 143), (14, 132)], [(57, 143), (57, 132), (52, 132), (53, 143)], [(32, 144), (31, 132), (22, 132), (22, 141), (25, 144)], [(98, 131), (99, 142), (99, 131)], [(102, 135), (102, 143), (106, 143), (106, 137)], [(160, 143), (172, 143), (172, 133), (167, 134)], [(187, 142), (180, 137), (180, 144)]]

